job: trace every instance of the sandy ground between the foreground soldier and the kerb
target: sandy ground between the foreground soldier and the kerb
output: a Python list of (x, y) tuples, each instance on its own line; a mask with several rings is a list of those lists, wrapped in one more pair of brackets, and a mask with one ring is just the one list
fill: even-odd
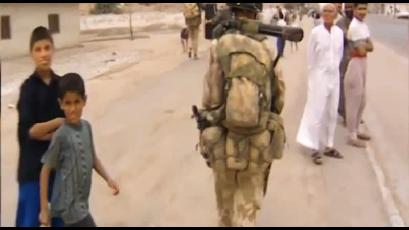
[[(309, 28), (307, 21), (304, 28)], [(306, 38), (309, 32), (305, 30)], [(390, 226), (371, 163), (364, 150), (346, 145), (345, 128), (339, 124), (335, 137), (345, 159), (324, 157), (323, 166), (314, 165), (311, 153), (295, 141), (306, 101), (307, 41), (297, 54), (290, 54), (286, 44), (284, 116), (289, 147), (284, 159), (272, 166), (261, 226)]]

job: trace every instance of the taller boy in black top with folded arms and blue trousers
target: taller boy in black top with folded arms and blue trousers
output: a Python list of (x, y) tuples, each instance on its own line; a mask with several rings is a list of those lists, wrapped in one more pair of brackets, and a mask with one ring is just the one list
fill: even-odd
[[(30, 54), (36, 67), (22, 83), (17, 103), (20, 155), (16, 227), (40, 226), (41, 157), (65, 117), (57, 100), (60, 76), (51, 70), (53, 53), (54, 42), (47, 28), (35, 28), (30, 38)], [(53, 176), (49, 183), (52, 188)], [(53, 219), (52, 226), (62, 226), (61, 219)]]

